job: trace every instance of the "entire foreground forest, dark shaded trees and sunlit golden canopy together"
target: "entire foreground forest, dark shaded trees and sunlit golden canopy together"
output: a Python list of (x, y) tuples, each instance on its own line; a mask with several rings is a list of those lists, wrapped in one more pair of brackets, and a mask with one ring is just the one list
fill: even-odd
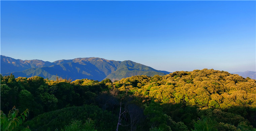
[(225, 71), (71, 81), (1, 75), (1, 131), (256, 131), (256, 80)]

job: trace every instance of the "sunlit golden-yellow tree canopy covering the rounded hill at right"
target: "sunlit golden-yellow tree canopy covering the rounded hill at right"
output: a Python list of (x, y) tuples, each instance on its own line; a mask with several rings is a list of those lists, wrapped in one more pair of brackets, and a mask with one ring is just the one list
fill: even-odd
[(256, 107), (256, 81), (213, 69), (176, 71), (154, 77), (133, 76), (113, 83), (160, 103), (186, 103), (199, 107)]

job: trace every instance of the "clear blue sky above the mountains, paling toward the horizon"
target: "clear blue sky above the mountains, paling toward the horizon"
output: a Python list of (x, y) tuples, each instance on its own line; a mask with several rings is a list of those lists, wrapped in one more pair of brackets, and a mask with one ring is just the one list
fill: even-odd
[(1, 55), (255, 71), (256, 1), (1, 1)]

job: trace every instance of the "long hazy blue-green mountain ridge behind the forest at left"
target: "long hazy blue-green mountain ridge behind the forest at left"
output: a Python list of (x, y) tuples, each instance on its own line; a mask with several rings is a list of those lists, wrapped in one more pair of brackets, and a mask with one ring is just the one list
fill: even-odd
[(153, 69), (133, 61), (114, 61), (103, 58), (75, 58), (72, 60), (57, 60), (45, 62), (42, 60), (17, 60), (1, 55), (1, 74), (15, 77), (41, 76), (56, 80), (57, 76), (67, 79), (109, 78), (112, 81), (134, 75), (166, 75), (170, 72)]

